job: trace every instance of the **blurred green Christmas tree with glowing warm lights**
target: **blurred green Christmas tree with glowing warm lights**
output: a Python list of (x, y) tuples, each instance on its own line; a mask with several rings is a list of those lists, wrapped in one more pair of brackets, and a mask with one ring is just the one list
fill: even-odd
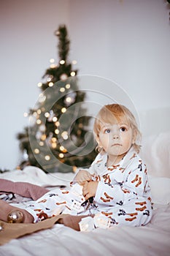
[(55, 31), (58, 37), (59, 61), (50, 60), (38, 83), (42, 93), (33, 109), (29, 110), (29, 127), (18, 134), (23, 161), (40, 167), (45, 172), (70, 172), (77, 167), (88, 167), (96, 157), (93, 133), (89, 132), (90, 116), (85, 108), (85, 91), (78, 88), (77, 70), (68, 61), (69, 38), (66, 26)]

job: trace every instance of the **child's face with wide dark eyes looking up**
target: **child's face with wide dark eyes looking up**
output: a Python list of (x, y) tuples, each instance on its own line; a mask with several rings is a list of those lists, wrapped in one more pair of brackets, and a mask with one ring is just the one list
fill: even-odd
[(98, 145), (104, 148), (109, 157), (123, 157), (133, 142), (133, 131), (125, 118), (113, 124), (104, 123), (101, 126)]

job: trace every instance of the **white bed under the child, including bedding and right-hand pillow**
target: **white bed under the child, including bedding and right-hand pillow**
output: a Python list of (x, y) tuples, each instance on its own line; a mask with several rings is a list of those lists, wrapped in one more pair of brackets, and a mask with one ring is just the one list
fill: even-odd
[[(152, 132), (152, 131), (151, 131)], [(150, 132), (150, 133), (151, 133)], [(10, 240), (0, 246), (1, 256), (13, 255), (170, 255), (170, 132), (146, 134), (142, 157), (149, 169), (153, 216), (144, 227), (97, 228), (76, 231), (61, 224)], [(28, 181), (53, 189), (68, 186), (73, 173), (43, 173), (28, 166), (1, 173), (0, 178)], [(36, 178), (35, 178), (36, 177)], [(22, 200), (20, 200), (20, 203)], [(3, 231), (1, 231), (3, 232)]]

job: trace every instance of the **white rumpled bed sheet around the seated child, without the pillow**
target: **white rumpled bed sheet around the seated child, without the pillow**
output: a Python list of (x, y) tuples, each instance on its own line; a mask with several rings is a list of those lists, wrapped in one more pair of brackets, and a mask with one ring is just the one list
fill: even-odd
[[(35, 179), (35, 176), (38, 177)], [(27, 167), (24, 172), (19, 170), (3, 173), (0, 178), (12, 181), (28, 181), (42, 186), (67, 185), (72, 173), (45, 174), (35, 167)], [(33, 178), (34, 177), (34, 178)], [(34, 182), (33, 182), (34, 181)], [(153, 217), (144, 227), (110, 227), (96, 229), (91, 232), (78, 232), (60, 224), (51, 229), (41, 230), (28, 236), (9, 241), (0, 246), (1, 256), (53, 256), (53, 255), (170, 255), (170, 192), (163, 186), (170, 184), (170, 178), (150, 176), (150, 184), (155, 196)], [(170, 186), (169, 186), (170, 187)], [(155, 189), (155, 190), (154, 190)]]

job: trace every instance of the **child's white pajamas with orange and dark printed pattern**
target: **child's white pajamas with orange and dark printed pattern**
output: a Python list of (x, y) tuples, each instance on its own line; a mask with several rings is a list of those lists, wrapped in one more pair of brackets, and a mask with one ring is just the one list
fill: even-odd
[(26, 210), (39, 221), (39, 214), (48, 217), (60, 214), (104, 214), (111, 225), (146, 225), (152, 217), (150, 187), (147, 167), (131, 148), (117, 164), (107, 167), (107, 154), (98, 154), (88, 169), (93, 180), (98, 181), (93, 203), (81, 206), (85, 201), (82, 187), (72, 182), (69, 190), (53, 189)]

